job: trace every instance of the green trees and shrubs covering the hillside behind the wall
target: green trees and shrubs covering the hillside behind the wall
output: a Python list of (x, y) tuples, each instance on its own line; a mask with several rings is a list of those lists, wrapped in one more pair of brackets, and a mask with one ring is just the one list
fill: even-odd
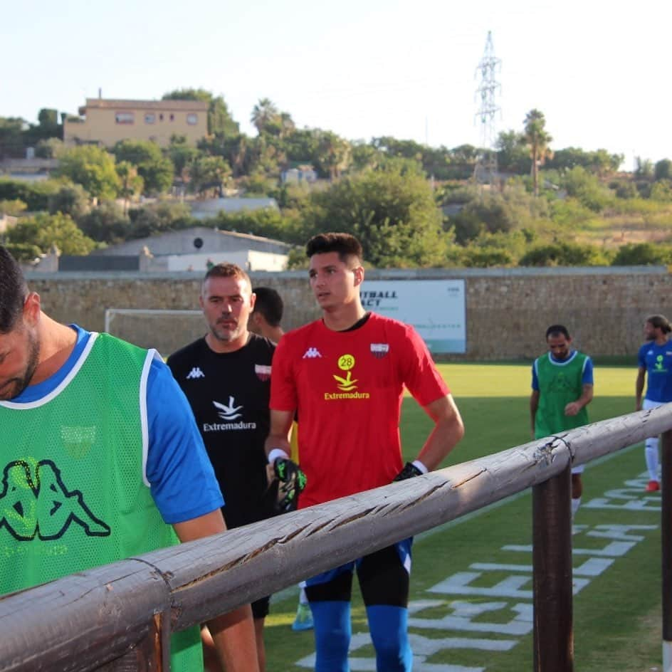
[[(638, 159), (623, 173), (623, 157), (606, 149), (554, 150), (539, 110), (493, 149), (448, 149), (298, 129), (268, 99), (252, 110), (248, 137), (221, 97), (165, 97), (209, 103), (197, 147), (173, 137), (164, 149), (140, 140), (65, 149), (56, 110), (41, 110), (39, 125), (0, 117), (0, 155), (31, 144), (60, 162), (45, 182), (0, 178), (0, 214), (18, 218), (0, 235), (16, 256), (53, 245), (88, 254), (201, 224), (292, 243), (292, 266), (305, 263), (308, 237), (331, 230), (362, 238), (377, 267), (672, 263), (672, 162)], [(224, 194), (269, 196), (278, 209), (191, 217), (189, 201)]]

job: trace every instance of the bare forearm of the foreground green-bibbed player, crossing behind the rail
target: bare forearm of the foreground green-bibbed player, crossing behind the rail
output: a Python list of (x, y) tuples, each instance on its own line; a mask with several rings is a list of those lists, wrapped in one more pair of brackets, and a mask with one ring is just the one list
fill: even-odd
[[(221, 510), (173, 525), (179, 540), (194, 541), (226, 531)], [(208, 621), (208, 628), (226, 672), (258, 672), (257, 649), (249, 604)]]

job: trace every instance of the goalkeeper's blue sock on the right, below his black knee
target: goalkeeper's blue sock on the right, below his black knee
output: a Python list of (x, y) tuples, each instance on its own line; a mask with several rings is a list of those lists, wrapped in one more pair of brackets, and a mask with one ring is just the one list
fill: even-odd
[(369, 631), (378, 672), (410, 672), (413, 653), (408, 635), (408, 609), (376, 604), (367, 607)]

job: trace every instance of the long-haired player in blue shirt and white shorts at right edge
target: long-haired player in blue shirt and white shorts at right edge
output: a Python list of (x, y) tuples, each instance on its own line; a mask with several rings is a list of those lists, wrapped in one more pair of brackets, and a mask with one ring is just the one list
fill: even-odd
[[(639, 348), (637, 355), (637, 382), (635, 385), (636, 410), (655, 409), (656, 406), (672, 401), (672, 346), (669, 343), (669, 334), (672, 326), (667, 317), (651, 315), (644, 322), (644, 337), (646, 343)], [(648, 377), (646, 395), (644, 379)], [(644, 444), (646, 468), (649, 471), (649, 483), (646, 492), (654, 493), (661, 489), (658, 481), (658, 437), (646, 439)]]

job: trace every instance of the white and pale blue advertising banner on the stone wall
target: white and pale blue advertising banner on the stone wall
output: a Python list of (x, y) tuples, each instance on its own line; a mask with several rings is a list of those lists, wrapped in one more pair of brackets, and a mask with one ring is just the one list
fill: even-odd
[(413, 325), (431, 352), (466, 352), (464, 280), (364, 280), (362, 305)]

